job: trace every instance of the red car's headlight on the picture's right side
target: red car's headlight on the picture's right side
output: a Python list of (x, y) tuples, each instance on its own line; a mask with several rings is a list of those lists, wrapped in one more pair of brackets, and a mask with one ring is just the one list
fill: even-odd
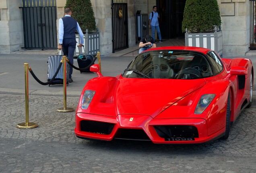
[(202, 95), (195, 109), (195, 114), (201, 114), (213, 101), (215, 94)]

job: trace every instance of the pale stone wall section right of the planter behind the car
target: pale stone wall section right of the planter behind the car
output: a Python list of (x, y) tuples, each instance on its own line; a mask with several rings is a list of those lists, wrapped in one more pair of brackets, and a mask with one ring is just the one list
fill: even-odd
[(250, 46), (250, 4), (248, 0), (219, 0), (223, 32), (223, 54), (245, 55)]

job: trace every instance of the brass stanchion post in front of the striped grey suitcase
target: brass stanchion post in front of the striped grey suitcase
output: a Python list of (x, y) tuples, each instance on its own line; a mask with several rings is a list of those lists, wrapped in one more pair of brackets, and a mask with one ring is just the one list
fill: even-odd
[(72, 112), (73, 108), (67, 108), (67, 76), (66, 76), (66, 56), (62, 56), (62, 65), (63, 65), (63, 108), (57, 109), (58, 112)]

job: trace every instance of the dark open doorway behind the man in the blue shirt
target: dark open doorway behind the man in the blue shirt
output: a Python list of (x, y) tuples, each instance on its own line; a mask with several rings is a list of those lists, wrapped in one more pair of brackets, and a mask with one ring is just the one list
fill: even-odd
[(156, 0), (159, 27), (163, 39), (184, 38), (182, 32), (183, 12), (186, 0)]

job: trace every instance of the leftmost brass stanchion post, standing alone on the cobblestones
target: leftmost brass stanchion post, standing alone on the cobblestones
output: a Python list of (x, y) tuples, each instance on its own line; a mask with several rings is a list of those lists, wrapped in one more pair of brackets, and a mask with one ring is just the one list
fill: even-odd
[(37, 123), (29, 123), (29, 64), (24, 63), (24, 70), (25, 70), (25, 113), (26, 113), (26, 122), (19, 123), (16, 127), (19, 129), (32, 129), (37, 127)]

